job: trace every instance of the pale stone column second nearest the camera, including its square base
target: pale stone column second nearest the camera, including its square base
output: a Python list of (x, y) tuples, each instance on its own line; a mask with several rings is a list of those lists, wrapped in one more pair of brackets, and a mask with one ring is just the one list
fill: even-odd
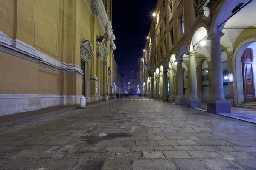
[[(189, 51), (189, 98), (187, 100), (187, 107), (201, 108), (201, 100), (197, 96), (197, 79), (196, 79), (196, 51)], [(187, 83), (188, 86), (188, 83)]]

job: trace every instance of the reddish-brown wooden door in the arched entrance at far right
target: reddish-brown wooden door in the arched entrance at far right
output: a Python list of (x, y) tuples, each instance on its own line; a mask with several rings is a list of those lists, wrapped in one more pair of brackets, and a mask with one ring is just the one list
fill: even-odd
[(243, 82), (244, 82), (244, 101), (256, 102), (254, 78), (253, 78), (253, 51), (246, 48), (242, 56)]

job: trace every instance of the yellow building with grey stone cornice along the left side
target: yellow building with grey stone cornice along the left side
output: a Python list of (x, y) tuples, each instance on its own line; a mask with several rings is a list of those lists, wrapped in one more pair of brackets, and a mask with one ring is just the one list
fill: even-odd
[(108, 98), (112, 0), (0, 1), (0, 116)]

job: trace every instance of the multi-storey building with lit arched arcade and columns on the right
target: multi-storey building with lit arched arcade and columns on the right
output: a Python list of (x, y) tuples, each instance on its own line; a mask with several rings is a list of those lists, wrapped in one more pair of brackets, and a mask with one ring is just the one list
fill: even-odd
[[(256, 103), (253, 0), (158, 0), (143, 60), (147, 96), (231, 113)], [(252, 102), (252, 103), (250, 103)]]

